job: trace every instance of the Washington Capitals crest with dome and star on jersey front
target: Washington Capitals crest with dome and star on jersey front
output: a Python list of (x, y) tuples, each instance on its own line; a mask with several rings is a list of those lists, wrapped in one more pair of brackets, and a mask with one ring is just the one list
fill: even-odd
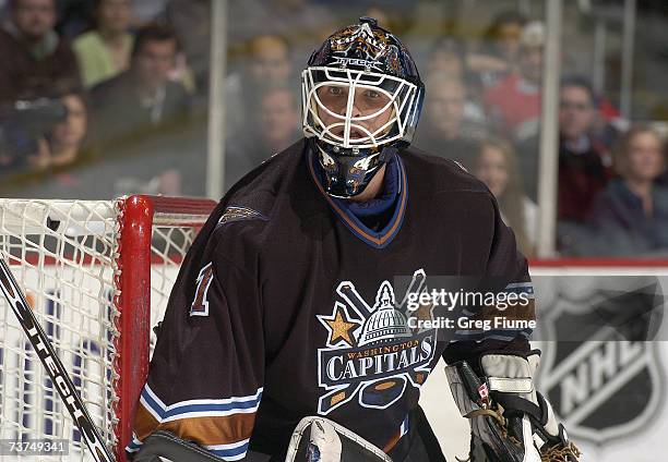
[[(372, 303), (365, 301), (355, 284), (336, 288), (341, 301), (331, 315), (319, 315), (327, 330), (326, 348), (318, 350), (318, 384), (325, 390), (318, 412), (326, 415), (357, 399), (363, 408), (386, 409), (408, 385), (419, 388), (431, 370), (437, 349), (436, 329), (411, 331), (407, 323), (408, 294), (426, 290), (422, 269), (415, 271), (401, 303), (394, 289), (383, 281)], [(414, 315), (425, 317), (420, 307)]]

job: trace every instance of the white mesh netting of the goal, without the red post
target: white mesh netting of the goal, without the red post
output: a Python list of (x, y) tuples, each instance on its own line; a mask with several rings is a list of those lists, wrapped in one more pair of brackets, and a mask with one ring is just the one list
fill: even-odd
[[(5, 258), (38, 321), (107, 446), (116, 445), (112, 403), (117, 354), (115, 276), (123, 202), (0, 199), (0, 257)], [(151, 305), (155, 326), (163, 316), (180, 263), (205, 215), (170, 208), (156, 211), (152, 239)], [(182, 222), (182, 223), (181, 223)], [(152, 341), (153, 343), (153, 341)], [(35, 355), (15, 315), (0, 296), (0, 439), (62, 438), (64, 458), (92, 460), (60, 397)], [(0, 460), (14, 460), (2, 455)]]

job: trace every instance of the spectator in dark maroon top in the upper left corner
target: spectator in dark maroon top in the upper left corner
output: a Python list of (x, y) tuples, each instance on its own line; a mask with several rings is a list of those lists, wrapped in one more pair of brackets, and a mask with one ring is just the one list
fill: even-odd
[(53, 31), (55, 0), (12, 0), (10, 10), (0, 31), (0, 105), (77, 89), (74, 53)]

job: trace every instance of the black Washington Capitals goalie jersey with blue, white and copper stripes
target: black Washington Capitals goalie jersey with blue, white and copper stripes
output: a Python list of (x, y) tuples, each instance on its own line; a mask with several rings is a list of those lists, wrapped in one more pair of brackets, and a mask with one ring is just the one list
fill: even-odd
[[(302, 139), (212, 214), (172, 290), (130, 453), (165, 429), (225, 460), (249, 449), (284, 457), (297, 423), (323, 415), (401, 460), (440, 357), (528, 351), (526, 328), (438, 332), (410, 321), (434, 314), (433, 303), (408, 303), (431, 276), (493, 277), (533, 299), (482, 183), (407, 148), (389, 161), (381, 196), (350, 205), (324, 192), (319, 169)], [(513, 316), (533, 319), (530, 302)], [(496, 311), (466, 309), (472, 319)]]

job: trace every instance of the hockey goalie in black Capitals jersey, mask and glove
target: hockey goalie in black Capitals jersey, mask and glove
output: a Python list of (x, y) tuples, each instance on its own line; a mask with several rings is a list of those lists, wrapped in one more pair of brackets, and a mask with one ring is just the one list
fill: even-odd
[(469, 460), (576, 462), (535, 389), (530, 329), (441, 332), (417, 323), (432, 304), (408, 303), (430, 277), (468, 276), (526, 295), (504, 315), (534, 319), (492, 194), (456, 153), (410, 146), (425, 86), (406, 47), (362, 17), (312, 53), (301, 84), (303, 138), (230, 190), (183, 262), (129, 455), (443, 461), (418, 404), (443, 357)]

